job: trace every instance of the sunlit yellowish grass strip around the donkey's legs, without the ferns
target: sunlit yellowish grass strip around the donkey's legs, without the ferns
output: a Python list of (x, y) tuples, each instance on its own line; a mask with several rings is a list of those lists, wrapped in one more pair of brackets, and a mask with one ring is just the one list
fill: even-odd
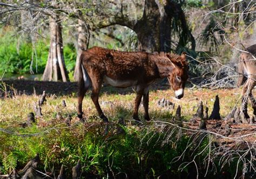
[[(159, 120), (161, 115), (166, 112), (174, 112), (172, 110), (166, 111), (163, 108), (157, 106), (157, 101), (161, 98), (169, 99), (169, 101), (176, 104), (176, 106), (181, 105), (181, 111), (183, 116), (192, 116), (196, 110), (199, 101), (203, 101), (204, 104), (207, 102), (209, 111), (211, 112), (213, 108), (213, 103), (215, 100), (215, 95), (219, 95), (220, 98), (220, 114), (221, 116), (226, 116), (236, 103), (240, 103), (240, 89), (221, 89), (221, 90), (208, 90), (208, 89), (197, 89), (197, 90), (185, 90), (185, 97), (181, 100), (174, 98), (173, 91), (169, 90), (156, 90), (150, 92), (150, 114), (153, 120)], [(99, 103), (102, 105), (102, 109), (106, 116), (112, 119), (116, 119), (116, 114), (120, 115), (125, 119), (131, 119), (133, 111), (133, 100), (135, 94), (102, 94), (99, 98)], [(16, 96), (14, 99), (8, 98), (1, 100), (1, 116), (0, 121), (8, 121), (11, 123), (12, 120), (22, 122), (26, 119), (26, 115), (33, 111), (33, 104), (39, 99), (38, 96)], [(62, 101), (66, 101), (68, 105), (66, 108), (62, 109)], [(75, 96), (63, 96), (55, 98), (55, 96), (48, 96), (47, 103), (43, 106), (42, 112), (44, 114), (44, 120), (48, 121), (53, 117), (54, 113), (62, 112), (63, 114), (72, 113), (75, 117), (76, 113), (77, 99)], [(15, 111), (13, 111), (15, 109)], [(123, 109), (123, 110), (122, 110)], [(90, 92), (84, 98), (83, 101), (84, 113), (89, 117), (97, 115), (96, 109), (91, 101)], [(143, 115), (144, 109), (140, 105), (139, 112)], [(122, 114), (124, 113), (124, 114)], [(160, 115), (160, 116), (159, 116)], [(161, 119), (160, 119), (161, 120)]]

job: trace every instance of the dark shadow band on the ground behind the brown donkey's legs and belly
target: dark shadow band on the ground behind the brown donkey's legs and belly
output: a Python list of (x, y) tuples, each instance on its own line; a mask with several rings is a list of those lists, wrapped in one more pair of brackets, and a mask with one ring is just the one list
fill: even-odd
[[(188, 84), (189, 85), (189, 84)], [(6, 87), (6, 88), (5, 88)], [(161, 79), (150, 85), (151, 91), (167, 90), (170, 85), (166, 79)], [(55, 94), (56, 96), (71, 95), (76, 96), (78, 85), (77, 82), (48, 82), (48, 81), (29, 81), (29, 80), (4, 80), (0, 81), (0, 97), (4, 96), (5, 92), (16, 92), (19, 94), (32, 95), (34, 89), (37, 95), (41, 95), (43, 91), (48, 95)], [(90, 90), (89, 90), (90, 91)], [(101, 94), (132, 94), (133, 87), (115, 88), (110, 85), (103, 84)]]

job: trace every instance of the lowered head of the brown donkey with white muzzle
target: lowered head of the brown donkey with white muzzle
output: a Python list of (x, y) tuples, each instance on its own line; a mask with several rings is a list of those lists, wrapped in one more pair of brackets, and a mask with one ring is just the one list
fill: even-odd
[(188, 78), (188, 63), (186, 61), (186, 54), (169, 55), (167, 57), (171, 60), (174, 67), (171, 71), (168, 80), (172, 89), (175, 91), (175, 97), (180, 99), (184, 96), (185, 83)]

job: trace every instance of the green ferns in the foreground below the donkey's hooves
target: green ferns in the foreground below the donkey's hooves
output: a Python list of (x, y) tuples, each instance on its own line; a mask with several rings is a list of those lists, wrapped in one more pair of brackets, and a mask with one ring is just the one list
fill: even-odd
[[(15, 142), (15, 146), (2, 159), (4, 169), (10, 172), (16, 167), (20, 168), (34, 153), (39, 153), (49, 170), (52, 164), (56, 168), (64, 164), (71, 169), (80, 159), (85, 163), (83, 171), (96, 176), (106, 176), (110, 172), (126, 173), (130, 177), (159, 176), (163, 171), (177, 170), (177, 164), (170, 161), (183, 152), (183, 147), (174, 149), (171, 143), (163, 145), (164, 133), (156, 132), (153, 128), (131, 126), (124, 127), (125, 134), (112, 133), (104, 137), (99, 133), (99, 128), (96, 124), (86, 131), (83, 126), (52, 130), (39, 138), (6, 136), (5, 145), (11, 146)], [(177, 142), (177, 146), (185, 142), (184, 138)]]

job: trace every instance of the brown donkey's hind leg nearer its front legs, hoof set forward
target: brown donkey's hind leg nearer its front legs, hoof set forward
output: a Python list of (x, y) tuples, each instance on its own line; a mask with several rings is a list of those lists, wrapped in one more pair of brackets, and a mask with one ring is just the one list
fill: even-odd
[(107, 117), (104, 115), (104, 113), (102, 112), (102, 109), (100, 108), (100, 105), (99, 105), (99, 92), (100, 92), (101, 86), (102, 86), (102, 82), (98, 82), (97, 84), (92, 85), (91, 99), (95, 105), (95, 108), (99, 114), (99, 117), (103, 119), (104, 123), (109, 123), (109, 119), (107, 119)]

